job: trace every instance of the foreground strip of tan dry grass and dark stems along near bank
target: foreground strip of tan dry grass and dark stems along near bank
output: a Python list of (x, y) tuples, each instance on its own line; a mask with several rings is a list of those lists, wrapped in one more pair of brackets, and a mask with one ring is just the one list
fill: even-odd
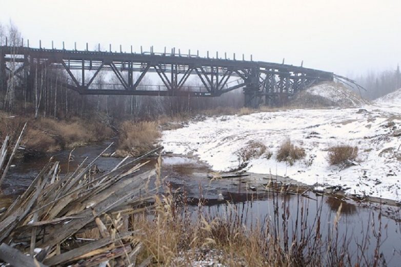
[[(272, 197), (279, 198), (276, 194)], [(339, 236), (337, 231), (341, 205), (332, 226), (325, 230), (330, 234), (323, 237), (320, 229), (322, 205), (313, 215), (314, 222), (309, 221), (308, 209), (305, 209), (308, 200), (298, 198), (301, 208), (295, 209), (280, 208), (282, 202), (273, 201), (280, 212), (273, 213), (270, 219), (256, 220), (250, 226), (247, 222), (253, 221), (252, 218), (244, 215), (244, 210), (238, 211), (235, 205), (227, 204), (224, 211), (215, 216), (207, 212), (210, 209), (202, 202), (190, 212), (185, 199), (167, 189), (166, 195), (155, 196), (154, 213), (131, 216), (130, 230), (141, 231), (135, 237), (135, 242), (143, 244), (137, 256), (139, 262), (150, 257), (150, 266), (198, 266), (202, 260), (213, 266), (218, 263), (224, 266), (354, 265), (348, 256), (347, 236)], [(296, 213), (295, 223), (281, 221), (280, 218), (289, 218), (291, 213)], [(295, 236), (289, 238), (289, 232)], [(363, 242), (360, 244), (363, 247)], [(379, 248), (377, 242), (377, 251)], [(371, 253), (366, 255), (363, 249), (359, 253), (363, 256), (353, 259), (355, 266), (365, 260), (377, 263), (378, 258), (373, 258)]]

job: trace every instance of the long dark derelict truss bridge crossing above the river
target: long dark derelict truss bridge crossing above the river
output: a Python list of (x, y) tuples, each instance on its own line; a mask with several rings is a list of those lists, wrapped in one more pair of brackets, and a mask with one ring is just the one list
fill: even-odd
[[(284, 62), (236, 60), (235, 54), (231, 60), (226, 54), (222, 59), (217, 53), (215, 58), (202, 58), (198, 53), (181, 54), (174, 50), (126, 53), (1, 46), (0, 86), (6, 88), (8, 79), (15, 75), (33, 87), (35, 69), (46, 67), (65, 71), (68, 79), (58, 83), (80, 94), (219, 97), (243, 88), (245, 106), (257, 107), (263, 102), (283, 101), (302, 89), (321, 81), (333, 81), (335, 77), (332, 72)], [(11, 63), (14, 68), (10, 68)], [(114, 72), (118, 85), (96, 84), (100, 71)], [(138, 73), (135, 78), (134, 72)], [(156, 73), (162, 86), (141, 85), (148, 73)], [(187, 86), (190, 77), (197, 77), (203, 86)]]

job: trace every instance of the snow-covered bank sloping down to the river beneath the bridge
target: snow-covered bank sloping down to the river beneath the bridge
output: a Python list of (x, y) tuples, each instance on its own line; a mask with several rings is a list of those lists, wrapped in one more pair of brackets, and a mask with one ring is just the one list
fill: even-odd
[[(401, 93), (400, 93), (401, 95)], [(306, 150), (292, 166), (276, 160), (290, 138)], [(262, 142), (272, 152), (251, 159), (245, 170), (288, 176), (299, 182), (340, 185), (349, 194), (401, 200), (401, 102), (378, 101), (361, 108), (290, 109), (245, 116), (219, 116), (163, 132), (165, 151), (194, 155), (215, 171), (237, 169), (238, 151)], [(356, 165), (332, 166), (327, 149), (357, 146)]]

